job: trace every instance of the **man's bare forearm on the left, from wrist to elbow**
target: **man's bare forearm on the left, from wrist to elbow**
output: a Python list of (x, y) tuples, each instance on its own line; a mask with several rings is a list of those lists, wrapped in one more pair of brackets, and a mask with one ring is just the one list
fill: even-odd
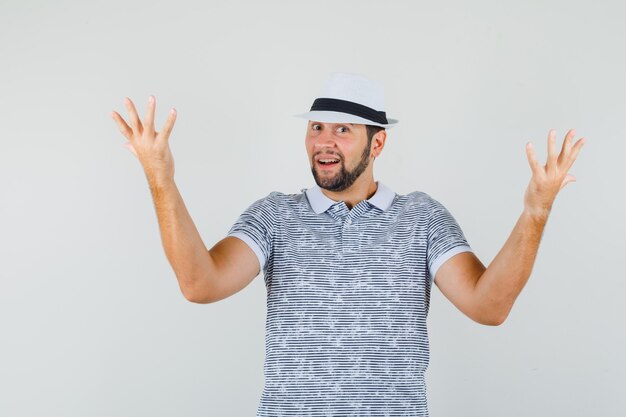
[(210, 276), (211, 259), (174, 180), (148, 182), (165, 255), (181, 291), (189, 298), (199, 281)]

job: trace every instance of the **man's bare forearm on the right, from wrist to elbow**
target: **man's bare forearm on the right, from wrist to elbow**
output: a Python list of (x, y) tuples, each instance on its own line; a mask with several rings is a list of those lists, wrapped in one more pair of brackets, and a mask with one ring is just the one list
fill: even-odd
[(547, 219), (547, 213), (532, 215), (524, 210), (504, 246), (476, 282), (476, 302), (496, 322), (508, 316), (530, 277)]

